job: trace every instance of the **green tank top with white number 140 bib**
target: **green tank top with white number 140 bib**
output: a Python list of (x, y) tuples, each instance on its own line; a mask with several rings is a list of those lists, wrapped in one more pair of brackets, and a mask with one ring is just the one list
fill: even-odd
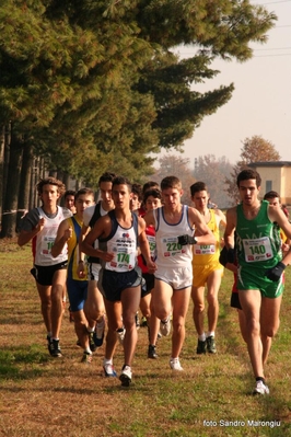
[(237, 260), (242, 267), (272, 268), (282, 260), (280, 228), (268, 217), (268, 205), (261, 202), (258, 215), (248, 220), (243, 205), (236, 207), (236, 248)]

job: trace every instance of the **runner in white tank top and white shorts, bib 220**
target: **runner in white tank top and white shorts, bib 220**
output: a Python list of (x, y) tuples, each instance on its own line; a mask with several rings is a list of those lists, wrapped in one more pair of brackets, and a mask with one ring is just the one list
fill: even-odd
[(171, 332), (170, 317), (173, 310), (170, 367), (183, 370), (179, 354), (185, 338), (185, 318), (193, 280), (193, 251), (189, 243), (214, 244), (216, 239), (201, 215), (195, 208), (182, 205), (183, 189), (176, 176), (163, 179), (161, 191), (164, 205), (144, 216), (147, 226), (155, 229), (158, 269), (152, 300), (163, 335)]

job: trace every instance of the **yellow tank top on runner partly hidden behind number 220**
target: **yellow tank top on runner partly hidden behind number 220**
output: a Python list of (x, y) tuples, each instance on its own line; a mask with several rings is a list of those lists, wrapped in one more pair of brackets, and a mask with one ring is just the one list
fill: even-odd
[(194, 244), (193, 246), (193, 266), (212, 264), (219, 261), (220, 254), (220, 232), (213, 209), (209, 209), (210, 220), (207, 223), (208, 228), (216, 237), (216, 244)]

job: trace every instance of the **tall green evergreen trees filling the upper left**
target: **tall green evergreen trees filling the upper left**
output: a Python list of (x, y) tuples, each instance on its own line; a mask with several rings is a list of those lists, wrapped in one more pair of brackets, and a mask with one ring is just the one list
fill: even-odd
[[(107, 169), (150, 175), (151, 152), (178, 150), (231, 99), (232, 83), (195, 91), (219, 73), (211, 61), (249, 59), (275, 21), (248, 0), (3, 0), (1, 237), (30, 205), (33, 172), (90, 186)], [(191, 58), (173, 54), (188, 44)]]

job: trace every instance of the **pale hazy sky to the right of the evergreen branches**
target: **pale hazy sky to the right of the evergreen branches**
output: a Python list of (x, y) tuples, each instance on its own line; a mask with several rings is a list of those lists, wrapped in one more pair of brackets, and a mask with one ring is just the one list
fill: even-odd
[[(216, 60), (211, 67), (220, 73), (195, 85), (205, 92), (233, 82), (235, 90), (232, 99), (216, 114), (205, 117), (193, 138), (185, 141), (183, 158), (189, 159), (190, 166), (195, 158), (206, 154), (226, 157), (233, 164), (240, 160), (243, 141), (255, 135), (270, 141), (282, 161), (291, 161), (291, 0), (252, 3), (275, 12), (276, 27), (268, 32), (266, 44), (251, 44), (251, 60)], [(190, 57), (195, 49), (181, 47), (178, 53)]]

